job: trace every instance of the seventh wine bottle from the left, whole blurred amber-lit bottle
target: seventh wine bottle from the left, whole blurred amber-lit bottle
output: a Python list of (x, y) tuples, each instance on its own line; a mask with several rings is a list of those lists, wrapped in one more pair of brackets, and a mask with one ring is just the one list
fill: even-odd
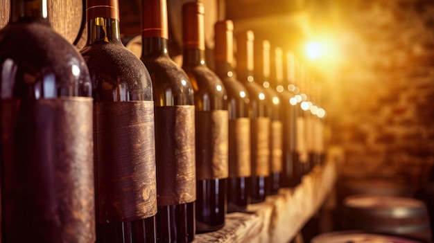
[[(282, 169), (282, 145), (283, 145), (283, 127), (281, 118), (284, 113), (283, 100), (287, 100), (283, 93), (277, 93), (277, 86), (283, 91), (283, 86), (277, 84), (281, 82), (276, 77), (276, 72), (271, 72), (270, 59), (270, 42), (264, 39), (261, 42), (255, 42), (254, 57), (254, 75), (255, 80), (265, 89), (268, 94), (268, 103), (270, 104), (270, 176), (266, 181), (269, 195), (275, 195), (279, 192), (280, 174)], [(274, 63), (274, 62), (273, 62)], [(277, 69), (273, 65), (273, 69)], [(273, 74), (273, 75), (272, 75)], [(282, 75), (281, 73), (279, 73)], [(288, 101), (289, 102), (289, 101)]]

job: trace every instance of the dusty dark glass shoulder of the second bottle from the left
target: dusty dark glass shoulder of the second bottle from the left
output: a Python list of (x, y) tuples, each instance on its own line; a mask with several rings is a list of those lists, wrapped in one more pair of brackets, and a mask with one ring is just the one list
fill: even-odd
[(96, 101), (110, 100), (109, 97), (98, 96), (101, 92), (110, 96), (110, 91), (118, 92), (116, 96), (119, 92), (126, 92), (122, 95), (124, 98), (118, 97), (121, 101), (152, 100), (153, 87), (148, 69), (122, 44), (94, 42), (80, 53), (87, 63)]

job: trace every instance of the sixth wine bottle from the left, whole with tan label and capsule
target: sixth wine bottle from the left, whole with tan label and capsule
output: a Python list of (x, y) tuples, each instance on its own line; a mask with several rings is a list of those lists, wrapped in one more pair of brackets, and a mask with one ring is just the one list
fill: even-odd
[(270, 104), (268, 93), (254, 82), (254, 34), (251, 30), (236, 34), (236, 74), (250, 97), (250, 200), (265, 201), (266, 178), (270, 175)]

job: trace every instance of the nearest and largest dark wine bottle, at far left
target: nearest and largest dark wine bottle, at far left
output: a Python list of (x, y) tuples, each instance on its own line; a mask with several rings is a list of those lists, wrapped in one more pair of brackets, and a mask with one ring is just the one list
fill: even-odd
[(3, 242), (94, 242), (92, 82), (46, 1), (11, 1), (0, 30)]

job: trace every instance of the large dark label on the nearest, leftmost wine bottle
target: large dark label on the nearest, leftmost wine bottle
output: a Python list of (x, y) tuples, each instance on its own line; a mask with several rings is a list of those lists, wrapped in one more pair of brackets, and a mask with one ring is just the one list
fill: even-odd
[(1, 100), (0, 112), (6, 241), (94, 242), (93, 99)]

